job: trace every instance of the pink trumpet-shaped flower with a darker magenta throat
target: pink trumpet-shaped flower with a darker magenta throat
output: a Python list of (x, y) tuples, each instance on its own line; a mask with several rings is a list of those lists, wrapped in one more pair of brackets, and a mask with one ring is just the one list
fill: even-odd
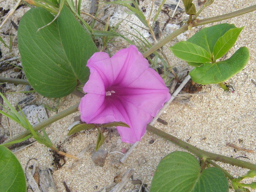
[(134, 45), (111, 58), (96, 52), (87, 67), (90, 77), (83, 87), (87, 94), (79, 104), (81, 120), (95, 124), (122, 121), (130, 126), (117, 127), (122, 141), (140, 141), (146, 125), (170, 99), (160, 75), (149, 68)]

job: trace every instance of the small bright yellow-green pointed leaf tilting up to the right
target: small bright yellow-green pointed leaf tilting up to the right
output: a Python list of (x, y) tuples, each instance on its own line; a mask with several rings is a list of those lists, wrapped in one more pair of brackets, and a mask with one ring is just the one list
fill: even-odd
[(215, 60), (224, 56), (225, 53), (234, 46), (243, 28), (244, 27), (230, 29), (217, 40), (213, 49)]

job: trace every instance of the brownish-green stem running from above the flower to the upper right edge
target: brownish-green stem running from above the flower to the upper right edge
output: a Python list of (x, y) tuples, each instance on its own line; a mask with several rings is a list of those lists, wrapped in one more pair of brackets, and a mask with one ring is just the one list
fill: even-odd
[[(253, 5), (253, 6), (244, 8), (244, 9), (240, 9), (240, 10), (237, 10), (237, 11), (232, 12), (232, 13), (227, 13), (227, 14), (224, 14), (224, 15), (210, 17), (210, 18), (207, 18), (207, 19), (199, 20), (197, 22), (192, 22), (191, 25), (192, 25), (192, 27), (196, 27), (196, 26), (199, 26), (199, 25), (207, 24), (207, 23), (213, 23), (213, 22), (217, 22), (217, 21), (222, 21), (222, 20), (230, 19), (232, 17), (236, 17), (236, 16), (239, 16), (239, 15), (243, 15), (243, 14), (252, 12), (254, 10), (256, 10), (256, 5)], [(158, 50), (160, 47), (162, 47), (163, 45), (168, 43), (170, 40), (174, 39), (178, 35), (182, 34), (186, 30), (188, 30), (188, 26), (189, 26), (188, 24), (184, 24), (180, 29), (177, 29), (176, 31), (174, 31), (173, 33), (168, 35), (167, 37), (165, 37), (162, 40), (160, 40), (157, 44), (155, 44), (150, 49), (145, 51), (142, 54), (143, 57), (145, 57), (145, 58), (148, 57), (151, 53), (153, 53), (154, 51)]]

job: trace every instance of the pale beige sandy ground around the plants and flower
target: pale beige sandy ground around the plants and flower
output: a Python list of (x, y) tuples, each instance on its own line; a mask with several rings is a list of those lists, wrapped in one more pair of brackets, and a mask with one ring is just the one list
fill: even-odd
[[(4, 1), (0, 3), (0, 6), (4, 9), (12, 8), (15, 5), (15, 1)], [(195, 1), (197, 5), (197, 1)], [(251, 5), (254, 5), (254, 0), (227, 0), (220, 1), (216, 0), (210, 7), (207, 7), (200, 15), (203, 18), (217, 16), (232, 12)], [(141, 7), (147, 8), (148, 14), (151, 1), (144, 0), (141, 2)], [(119, 8), (122, 12), (122, 8)], [(154, 6), (154, 10), (157, 6)], [(13, 21), (17, 23), (17, 19), (20, 18), (28, 8), (21, 7), (11, 17)], [(88, 12), (89, 8), (83, 4), (83, 10)], [(153, 12), (155, 14), (155, 12)], [(250, 59), (246, 67), (234, 77), (226, 81), (227, 84), (231, 84), (234, 88), (234, 92), (225, 92), (215, 84), (203, 86), (203, 90), (200, 92), (206, 92), (207, 95), (197, 95), (189, 99), (178, 98), (178, 100), (184, 100), (183, 102), (173, 102), (169, 105), (168, 109), (162, 114), (161, 118), (168, 122), (168, 125), (156, 123), (154, 126), (170, 133), (184, 141), (188, 140), (191, 145), (199, 147), (200, 149), (207, 150), (212, 153), (218, 153), (229, 157), (243, 156), (247, 158), (240, 158), (241, 160), (256, 163), (256, 154), (245, 151), (237, 150), (226, 146), (227, 142), (233, 143), (236, 146), (243, 147), (250, 150), (256, 150), (255, 146), (255, 111), (256, 111), (256, 85), (251, 81), (256, 81), (256, 52), (255, 52), (255, 16), (256, 12), (249, 13), (243, 16), (239, 16), (233, 19), (225, 20), (219, 23), (234, 23), (236, 27), (245, 26), (239, 36), (235, 46), (228, 52), (227, 58), (229, 58), (239, 47), (246, 46), (250, 51)], [(122, 16), (122, 14), (120, 14)], [(119, 15), (119, 16), (120, 16)], [(183, 15), (183, 17), (185, 17)], [(129, 20), (133, 20), (131, 16)], [(164, 21), (167, 20), (165, 14), (160, 14), (160, 29), (162, 29)], [(111, 22), (111, 21), (110, 21)], [(114, 21), (112, 21), (114, 22)], [(171, 21), (170, 23), (176, 23)], [(218, 23), (215, 23), (218, 24)], [(212, 24), (208, 24), (210, 26)], [(127, 25), (122, 26), (125, 30)], [(206, 27), (206, 26), (204, 26)], [(186, 37), (192, 36), (201, 27), (192, 29), (186, 33)], [(3, 32), (4, 29), (1, 30)], [(19, 56), (17, 52), (17, 31), (11, 29), (14, 36), (14, 51), (13, 56)], [(168, 31), (164, 30), (161, 33), (161, 38), (168, 35)], [(1, 35), (2, 36), (2, 35)], [(7, 41), (8, 36), (4, 36)], [(150, 39), (150, 37), (148, 37)], [(174, 39), (166, 46), (163, 50), (166, 53), (171, 65), (177, 67), (178, 71), (183, 69), (190, 69), (185, 62), (175, 58), (168, 46), (171, 46), (178, 42)], [(118, 43), (120, 45), (120, 43)], [(110, 46), (110, 50), (115, 52), (116, 49), (122, 49), (127, 46), (127, 43), (121, 44), (119, 47), (115, 47), (116, 44)], [(114, 48), (115, 47), (115, 48)], [(1, 45), (2, 52), (5, 51), (3, 56), (7, 57), (7, 50)], [(4, 51), (3, 51), (4, 50)], [(10, 56), (11, 57), (11, 56)], [(1, 74), (1, 76), (15, 77), (17, 72), (13, 69), (9, 69)], [(22, 91), (24, 90), (23, 85), (7, 85), (8, 92)], [(35, 94), (37, 97), (36, 104), (46, 104), (51, 107), (57, 105), (57, 101), (52, 101), (48, 98), (42, 98)], [(12, 104), (15, 104), (23, 99), (23, 94), (8, 94), (7, 98)], [(61, 100), (58, 111), (63, 111), (69, 106), (79, 102), (79, 98), (73, 95), (69, 95)], [(47, 111), (49, 116), (56, 114), (56, 111)], [(49, 137), (53, 143), (59, 145), (68, 138), (67, 127), (73, 123), (74, 117), (79, 116), (79, 112), (76, 112), (64, 119), (53, 123), (46, 128), (46, 132), (49, 133)], [(8, 131), (8, 125), (6, 118), (2, 117), (1, 124), (5, 127), (5, 132)], [(17, 126), (12, 121), (9, 121), (9, 129), (12, 136), (15, 136), (23, 131), (23, 129)], [(1, 134), (3, 131), (1, 130)], [(45, 146), (35, 143), (30, 147), (23, 149), (20, 153), (16, 154), (19, 158), (24, 170), (30, 164), (36, 164), (38, 170), (53, 170), (53, 179), (59, 192), (64, 192), (65, 187), (63, 181), (66, 182), (67, 186), (72, 192), (93, 192), (102, 190), (104, 187), (108, 188), (114, 185), (114, 177), (117, 175), (123, 175), (129, 168), (134, 169), (133, 178), (144, 181), (148, 189), (153, 178), (153, 173), (162, 157), (175, 150), (183, 150), (180, 147), (173, 145), (172, 143), (156, 136), (152, 133), (147, 132), (142, 138), (141, 142), (134, 149), (133, 153), (127, 158), (124, 164), (119, 163), (122, 154), (111, 153), (121, 152), (123, 148), (129, 149), (131, 144), (119, 143), (119, 136), (111, 132), (106, 132), (106, 141), (102, 145), (101, 149), (108, 151), (104, 167), (95, 166), (92, 161), (92, 153), (94, 151), (94, 145), (97, 139), (97, 131), (89, 130), (84, 133), (79, 133), (71, 140), (65, 142), (61, 147), (68, 153), (77, 156), (81, 150), (87, 149), (84, 158), (76, 164), (73, 169), (68, 167), (74, 161), (71, 158), (66, 158), (66, 163), (61, 169), (56, 169), (53, 163), (52, 153)], [(154, 140), (151, 143), (151, 140)], [(185, 151), (185, 150), (184, 150)], [(111, 153), (111, 154), (110, 154)], [(31, 160), (32, 158), (36, 158)], [(29, 161), (30, 160), (30, 161)], [(142, 165), (139, 162), (144, 161)], [(29, 163), (28, 163), (29, 162)], [(228, 170), (234, 177), (241, 176), (248, 170), (233, 165), (218, 163), (222, 168)], [(253, 181), (253, 179), (248, 180)], [(140, 185), (134, 185), (129, 181), (122, 192), (135, 192), (138, 191)], [(230, 191), (233, 191), (230, 189)], [(256, 191), (256, 190), (251, 190)]]

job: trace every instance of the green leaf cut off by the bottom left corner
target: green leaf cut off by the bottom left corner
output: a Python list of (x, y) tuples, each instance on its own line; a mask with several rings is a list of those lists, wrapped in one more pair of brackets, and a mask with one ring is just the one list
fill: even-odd
[(26, 192), (26, 179), (20, 162), (6, 147), (0, 146), (0, 192)]

